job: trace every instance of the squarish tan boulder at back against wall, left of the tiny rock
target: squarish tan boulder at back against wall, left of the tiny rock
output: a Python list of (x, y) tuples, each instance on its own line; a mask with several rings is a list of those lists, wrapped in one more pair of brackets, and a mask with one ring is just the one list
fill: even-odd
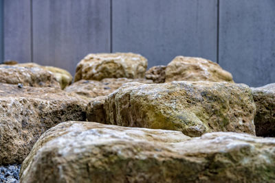
[(76, 67), (74, 82), (104, 78), (144, 78), (147, 60), (135, 53), (89, 54)]

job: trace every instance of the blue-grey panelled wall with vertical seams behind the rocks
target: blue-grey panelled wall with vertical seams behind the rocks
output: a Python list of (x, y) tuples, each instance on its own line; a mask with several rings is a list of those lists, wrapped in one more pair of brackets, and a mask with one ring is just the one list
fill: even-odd
[(132, 51), (219, 63), (235, 82), (275, 82), (274, 0), (1, 0), (1, 60), (74, 75), (87, 53)]

